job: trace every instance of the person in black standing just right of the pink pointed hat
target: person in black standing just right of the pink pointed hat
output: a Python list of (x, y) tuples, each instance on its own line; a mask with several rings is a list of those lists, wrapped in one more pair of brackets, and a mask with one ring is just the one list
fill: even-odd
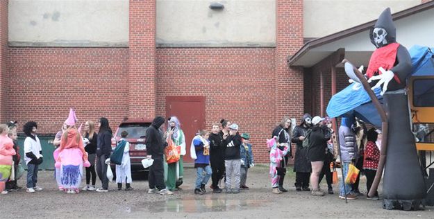
[[(95, 132), (95, 123), (92, 121), (86, 121), (85, 123), (84, 143), (85, 151), (87, 152), (87, 159), (89, 160), (90, 166), (86, 167), (86, 186), (83, 188), (83, 190), (94, 191), (95, 181), (97, 179), (97, 173), (95, 172), (95, 160), (97, 158), (98, 134), (97, 132)], [(92, 186), (90, 186), (91, 177)]]

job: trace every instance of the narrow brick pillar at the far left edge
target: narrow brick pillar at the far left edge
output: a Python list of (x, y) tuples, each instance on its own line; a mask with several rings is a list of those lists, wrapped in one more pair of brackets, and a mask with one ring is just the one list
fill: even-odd
[(8, 112), (8, 1), (0, 1), (0, 122)]

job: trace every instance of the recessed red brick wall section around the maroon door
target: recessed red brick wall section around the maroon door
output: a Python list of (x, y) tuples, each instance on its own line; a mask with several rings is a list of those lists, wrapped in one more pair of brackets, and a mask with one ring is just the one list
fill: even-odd
[(276, 125), (274, 49), (157, 49), (157, 114), (165, 96), (206, 96), (206, 128), (220, 119), (251, 134), (256, 161), (267, 163), (265, 139)]

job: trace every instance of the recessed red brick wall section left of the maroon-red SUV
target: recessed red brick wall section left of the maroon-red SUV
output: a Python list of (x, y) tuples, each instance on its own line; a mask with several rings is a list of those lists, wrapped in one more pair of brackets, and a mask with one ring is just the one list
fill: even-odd
[(128, 113), (128, 49), (10, 48), (8, 119), (37, 121), (56, 133), (76, 108), (80, 122), (106, 116), (112, 128)]

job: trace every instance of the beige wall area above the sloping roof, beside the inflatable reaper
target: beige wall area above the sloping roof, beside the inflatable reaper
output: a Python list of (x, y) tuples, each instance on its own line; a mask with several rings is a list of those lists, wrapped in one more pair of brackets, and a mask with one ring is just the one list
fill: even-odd
[(305, 0), (304, 37), (324, 37), (420, 4), (420, 0)]

